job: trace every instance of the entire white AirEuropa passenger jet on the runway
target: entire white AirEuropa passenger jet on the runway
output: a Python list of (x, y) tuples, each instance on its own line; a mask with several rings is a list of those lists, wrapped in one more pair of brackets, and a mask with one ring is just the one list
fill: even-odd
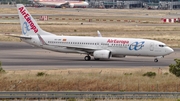
[(17, 4), (18, 15), (22, 28), (22, 35), (12, 35), (22, 41), (42, 49), (62, 52), (86, 54), (85, 61), (110, 59), (112, 57), (125, 58), (126, 56), (154, 57), (154, 62), (174, 52), (165, 43), (150, 39), (112, 38), (84, 36), (58, 36), (46, 32), (22, 4)]

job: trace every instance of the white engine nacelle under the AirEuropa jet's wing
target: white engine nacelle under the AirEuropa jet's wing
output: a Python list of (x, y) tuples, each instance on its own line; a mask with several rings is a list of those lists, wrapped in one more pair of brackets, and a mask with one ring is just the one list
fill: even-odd
[(109, 50), (97, 50), (93, 53), (96, 59), (109, 59), (111, 57), (111, 52)]

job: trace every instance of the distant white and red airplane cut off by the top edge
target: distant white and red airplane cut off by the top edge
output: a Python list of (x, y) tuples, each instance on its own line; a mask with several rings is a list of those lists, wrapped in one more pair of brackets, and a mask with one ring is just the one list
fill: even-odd
[(46, 5), (46, 6), (55, 6), (56, 8), (59, 7), (88, 7), (89, 3), (85, 0), (33, 0), (34, 3)]

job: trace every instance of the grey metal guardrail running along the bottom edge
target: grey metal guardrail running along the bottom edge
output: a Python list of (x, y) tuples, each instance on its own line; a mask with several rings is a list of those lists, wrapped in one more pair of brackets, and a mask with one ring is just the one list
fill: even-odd
[(0, 92), (0, 99), (157, 99), (180, 98), (179, 92)]

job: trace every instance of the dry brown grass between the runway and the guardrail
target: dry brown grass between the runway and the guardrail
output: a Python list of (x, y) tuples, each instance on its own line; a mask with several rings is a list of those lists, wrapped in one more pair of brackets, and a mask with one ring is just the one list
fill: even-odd
[[(167, 68), (147, 68), (7, 71), (0, 76), (0, 91), (179, 91), (180, 80)], [(157, 75), (142, 76), (147, 70)], [(39, 72), (47, 75), (36, 76)]]

